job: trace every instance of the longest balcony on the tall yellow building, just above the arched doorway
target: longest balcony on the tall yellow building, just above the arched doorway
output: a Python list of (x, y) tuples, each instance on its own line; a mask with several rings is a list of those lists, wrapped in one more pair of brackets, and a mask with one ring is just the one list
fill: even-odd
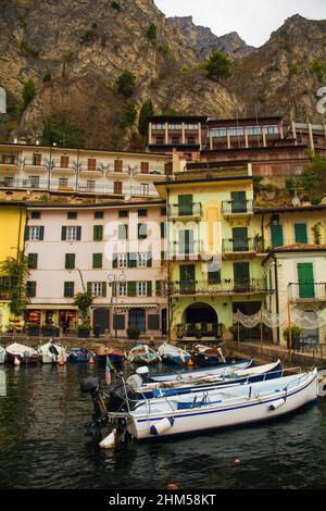
[(272, 292), (265, 288), (261, 278), (244, 281), (222, 279), (221, 283), (208, 281), (187, 281), (171, 284), (172, 296), (231, 296), (231, 295), (266, 295)]

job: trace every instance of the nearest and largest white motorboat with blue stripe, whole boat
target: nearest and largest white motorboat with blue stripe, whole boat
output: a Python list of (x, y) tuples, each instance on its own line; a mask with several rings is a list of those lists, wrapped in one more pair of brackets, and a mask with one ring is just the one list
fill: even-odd
[[(172, 398), (126, 400), (124, 411), (110, 409), (113, 426), (126, 424), (137, 440), (238, 426), (286, 415), (318, 397), (318, 374), (285, 376)], [(128, 402), (127, 402), (128, 401)]]

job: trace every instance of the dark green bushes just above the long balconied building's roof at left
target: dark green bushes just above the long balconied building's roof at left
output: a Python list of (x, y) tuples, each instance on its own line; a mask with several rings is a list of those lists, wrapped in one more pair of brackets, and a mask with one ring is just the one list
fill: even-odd
[(43, 123), (41, 135), (41, 144), (43, 146), (57, 146), (83, 148), (85, 146), (85, 136), (82, 130), (62, 119), (48, 119)]

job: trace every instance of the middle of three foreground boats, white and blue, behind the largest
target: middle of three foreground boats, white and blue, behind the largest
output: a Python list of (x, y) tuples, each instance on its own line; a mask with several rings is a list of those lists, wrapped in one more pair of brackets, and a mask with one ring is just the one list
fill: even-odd
[(279, 378), (283, 375), (280, 360), (274, 363), (258, 365), (255, 367), (239, 370), (223, 375), (211, 375), (198, 377), (191, 382), (167, 382), (167, 383), (148, 383), (147, 367), (139, 367), (136, 374), (129, 376), (126, 381), (138, 399), (153, 399), (158, 397), (180, 396), (183, 394), (198, 392), (199, 390), (212, 390), (217, 387), (228, 385), (244, 385), (255, 382), (265, 382), (267, 379)]

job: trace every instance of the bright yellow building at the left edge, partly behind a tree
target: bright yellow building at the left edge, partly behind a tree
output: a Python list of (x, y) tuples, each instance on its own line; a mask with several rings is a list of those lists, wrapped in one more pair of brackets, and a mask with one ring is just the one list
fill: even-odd
[[(24, 249), (26, 209), (20, 202), (0, 202), (0, 263), (7, 258), (16, 258)], [(0, 331), (9, 325), (10, 282), (0, 273)]]

